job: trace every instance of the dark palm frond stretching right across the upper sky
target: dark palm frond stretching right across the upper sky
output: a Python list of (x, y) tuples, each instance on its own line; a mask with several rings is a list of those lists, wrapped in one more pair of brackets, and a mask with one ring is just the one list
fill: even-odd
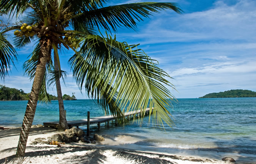
[(137, 21), (143, 21), (143, 17), (152, 15), (152, 12), (159, 12), (164, 9), (172, 9), (177, 13), (182, 10), (177, 7), (176, 3), (130, 3), (124, 5), (109, 6), (100, 9), (87, 10), (83, 9), (82, 15), (79, 15), (74, 20), (74, 23), (89, 23), (91, 27), (97, 26), (108, 31), (116, 32), (118, 27), (135, 29)]

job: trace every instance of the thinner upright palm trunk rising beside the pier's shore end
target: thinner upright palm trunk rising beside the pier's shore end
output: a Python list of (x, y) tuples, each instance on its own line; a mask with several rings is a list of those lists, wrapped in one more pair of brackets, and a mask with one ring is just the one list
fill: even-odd
[[(57, 61), (57, 57), (55, 54), (54, 54), (54, 69), (56, 72), (59, 71), (58, 61)], [(64, 112), (64, 104), (63, 104), (62, 93), (61, 93), (60, 79), (56, 80), (55, 84), (56, 84), (56, 89), (57, 89), (57, 95), (58, 95), (58, 101), (59, 101), (59, 111), (60, 111), (60, 120), (59, 120), (58, 130), (64, 131), (64, 130), (68, 129), (68, 123), (67, 123), (65, 112)]]

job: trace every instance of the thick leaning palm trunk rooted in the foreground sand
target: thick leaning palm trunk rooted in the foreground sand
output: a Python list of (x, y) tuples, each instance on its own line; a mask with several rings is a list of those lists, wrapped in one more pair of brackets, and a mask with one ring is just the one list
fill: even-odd
[(28, 134), (34, 120), (38, 96), (46, 69), (46, 63), (51, 51), (50, 40), (40, 40), (40, 43), (41, 49), (39, 53), (39, 59), (36, 66), (35, 78), (32, 85), (31, 94), (28, 100), (24, 120), (22, 123), (16, 157), (25, 155)]

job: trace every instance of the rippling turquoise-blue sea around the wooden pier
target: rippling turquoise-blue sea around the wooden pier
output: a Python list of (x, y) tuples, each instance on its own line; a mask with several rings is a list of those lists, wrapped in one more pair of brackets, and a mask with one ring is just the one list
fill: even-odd
[[(138, 147), (168, 149), (205, 150), (256, 155), (256, 98), (206, 98), (177, 99), (168, 110), (175, 126), (165, 129), (148, 123), (148, 116), (140, 126), (138, 121), (108, 129), (101, 125), (101, 131), (92, 131), (136, 144)], [(21, 126), (27, 101), (0, 101), (0, 126)], [(91, 118), (105, 113), (92, 100), (64, 101), (67, 120)], [(58, 101), (38, 104), (33, 124), (58, 121)], [(86, 127), (82, 127), (86, 128)]]

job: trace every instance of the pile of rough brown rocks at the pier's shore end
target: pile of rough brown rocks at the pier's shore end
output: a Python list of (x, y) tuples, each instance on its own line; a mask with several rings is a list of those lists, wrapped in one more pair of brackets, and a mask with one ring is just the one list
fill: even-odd
[(65, 144), (65, 143), (83, 143), (96, 144), (96, 141), (104, 141), (102, 136), (95, 134), (93, 137), (85, 136), (85, 132), (82, 129), (72, 127), (65, 130), (65, 132), (54, 134), (46, 138), (36, 138), (31, 144)]

